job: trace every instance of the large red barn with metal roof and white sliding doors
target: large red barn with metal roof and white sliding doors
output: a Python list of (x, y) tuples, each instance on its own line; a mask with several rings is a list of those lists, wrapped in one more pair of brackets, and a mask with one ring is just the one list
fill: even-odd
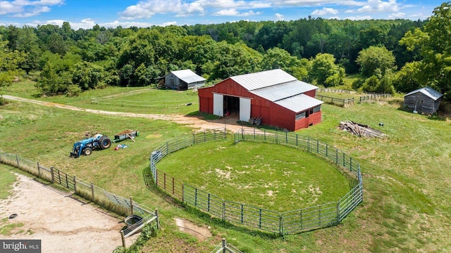
[(200, 88), (199, 111), (221, 117), (237, 112), (242, 121), (261, 117), (261, 124), (296, 131), (321, 122), (316, 89), (279, 69), (242, 74)]

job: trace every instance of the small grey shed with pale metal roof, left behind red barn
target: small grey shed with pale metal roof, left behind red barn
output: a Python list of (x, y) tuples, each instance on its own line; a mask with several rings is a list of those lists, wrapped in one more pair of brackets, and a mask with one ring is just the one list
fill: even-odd
[(200, 77), (192, 70), (175, 70), (164, 76), (164, 85), (168, 89), (184, 91), (205, 85), (205, 78)]

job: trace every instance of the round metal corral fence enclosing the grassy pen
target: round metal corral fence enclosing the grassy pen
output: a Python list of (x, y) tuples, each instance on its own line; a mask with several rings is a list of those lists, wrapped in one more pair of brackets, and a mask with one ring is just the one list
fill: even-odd
[[(220, 130), (205, 131), (204, 133), (194, 134), (190, 139), (183, 138), (164, 143), (150, 155), (150, 166), (144, 170), (144, 177), (149, 181), (153, 179), (156, 186), (175, 199), (197, 207), (202, 212), (211, 214), (211, 216), (216, 216), (224, 221), (246, 226), (247, 228), (257, 228), (261, 231), (278, 233), (280, 235), (334, 226), (340, 223), (342, 219), (345, 219), (345, 216), (363, 201), (363, 182), (359, 162), (327, 143), (295, 133), (242, 128), (234, 136), (235, 143), (240, 141), (266, 141), (291, 145), (316, 153), (334, 162), (340, 169), (349, 172), (345, 175), (351, 181), (350, 192), (340, 198), (338, 202), (279, 213), (239, 202), (223, 200), (221, 197), (183, 183), (179, 179), (175, 179), (173, 176), (156, 168), (156, 163), (168, 153), (186, 148), (194, 143), (219, 141), (226, 138), (225, 129), (221, 130), (221, 132), (224, 131), (223, 134), (217, 131)], [(205, 138), (200, 138), (203, 135)], [(218, 138), (218, 136), (223, 137)], [(201, 141), (197, 142), (194, 140)], [(148, 186), (149, 181), (147, 181)]]

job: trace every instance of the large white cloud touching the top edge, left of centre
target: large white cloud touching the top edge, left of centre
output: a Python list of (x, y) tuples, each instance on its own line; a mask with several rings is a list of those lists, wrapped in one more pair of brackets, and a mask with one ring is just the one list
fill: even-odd
[(119, 13), (123, 19), (151, 18), (156, 13), (177, 13), (185, 16), (194, 13), (204, 13), (204, 8), (199, 2), (187, 3), (182, 0), (147, 0), (140, 1), (138, 4), (128, 6), (125, 11)]

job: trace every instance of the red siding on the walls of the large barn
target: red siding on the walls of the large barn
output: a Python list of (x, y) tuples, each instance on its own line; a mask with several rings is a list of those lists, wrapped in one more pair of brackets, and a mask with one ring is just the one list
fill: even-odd
[[(261, 117), (262, 124), (278, 126), (296, 131), (307, 128), (309, 124), (318, 124), (321, 122), (321, 111), (310, 115), (307, 118), (295, 120), (296, 113), (283, 108), (276, 103), (256, 96), (233, 79), (226, 79), (215, 86), (199, 89), (199, 111), (209, 114), (213, 113), (213, 93), (220, 93), (227, 96), (236, 96), (241, 98), (251, 98), (251, 117)], [(307, 96), (315, 97), (316, 90), (307, 91)]]

